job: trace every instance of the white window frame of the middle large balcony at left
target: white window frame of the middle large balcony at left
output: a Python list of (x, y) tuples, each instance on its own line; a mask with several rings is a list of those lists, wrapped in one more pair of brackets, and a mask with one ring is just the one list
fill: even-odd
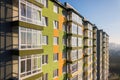
[[(24, 40), (24, 39), (21, 38), (23, 32), (26, 35), (26, 37), (24, 37), (25, 43), (22, 43), (22, 40)], [(28, 43), (29, 40), (27, 40), (28, 33), (31, 33), (31, 43), (30, 44)], [(28, 46), (31, 46), (31, 47), (28, 47)], [(24, 27), (19, 26), (19, 49), (20, 50), (42, 49), (42, 31), (30, 29), (30, 28), (24, 28)]]

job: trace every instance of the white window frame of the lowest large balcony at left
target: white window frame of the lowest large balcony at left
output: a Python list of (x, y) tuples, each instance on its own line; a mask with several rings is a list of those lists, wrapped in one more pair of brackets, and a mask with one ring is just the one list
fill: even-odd
[[(36, 64), (37, 68), (36, 69), (33, 69), (33, 60), (34, 60), (34, 58), (37, 59), (37, 64)], [(28, 59), (31, 59), (31, 70), (30, 71), (27, 71), (27, 60)], [(39, 63), (38, 63), (39, 59), (41, 61), (40, 62), (40, 67), (39, 67)], [(23, 65), (21, 65), (22, 61), (25, 61), (25, 65), (24, 65), (25, 71), (24, 72), (21, 72), (21, 68), (22, 68), (21, 66), (23, 66)], [(19, 57), (19, 64), (20, 64), (20, 68), (19, 68), (20, 72), (19, 72), (19, 74), (20, 74), (21, 79), (24, 79), (26, 77), (29, 77), (29, 76), (32, 76), (34, 74), (42, 72), (42, 56), (41, 56), (41, 54), (35, 54), (35, 55), (28, 55), (28, 56)]]

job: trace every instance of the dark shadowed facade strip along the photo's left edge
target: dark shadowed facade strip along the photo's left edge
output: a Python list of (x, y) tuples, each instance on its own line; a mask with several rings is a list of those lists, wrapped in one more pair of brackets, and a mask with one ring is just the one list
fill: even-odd
[[(12, 21), (14, 0), (0, 0), (0, 80), (12, 80), (13, 56), (10, 50), (13, 47)], [(16, 0), (17, 1), (17, 0)], [(18, 16), (17, 16), (18, 17)]]

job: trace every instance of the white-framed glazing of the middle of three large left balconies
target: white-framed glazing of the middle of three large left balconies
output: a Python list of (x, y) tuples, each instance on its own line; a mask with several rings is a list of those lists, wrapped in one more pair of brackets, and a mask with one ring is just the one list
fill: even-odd
[(20, 49), (42, 48), (42, 32), (39, 30), (19, 27)]

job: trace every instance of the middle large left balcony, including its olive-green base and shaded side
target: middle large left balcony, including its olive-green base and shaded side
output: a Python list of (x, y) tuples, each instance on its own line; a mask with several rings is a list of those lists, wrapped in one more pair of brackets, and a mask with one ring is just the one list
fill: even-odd
[(25, 55), (43, 52), (42, 32), (40, 30), (16, 26), (12, 27), (12, 31), (13, 53)]

